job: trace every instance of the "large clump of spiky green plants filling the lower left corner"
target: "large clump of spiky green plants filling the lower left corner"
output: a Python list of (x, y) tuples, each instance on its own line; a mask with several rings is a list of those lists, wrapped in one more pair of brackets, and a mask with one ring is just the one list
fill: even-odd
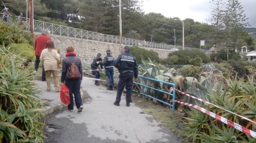
[(21, 55), (0, 46), (0, 142), (43, 142), (42, 100), (33, 69), (21, 69)]

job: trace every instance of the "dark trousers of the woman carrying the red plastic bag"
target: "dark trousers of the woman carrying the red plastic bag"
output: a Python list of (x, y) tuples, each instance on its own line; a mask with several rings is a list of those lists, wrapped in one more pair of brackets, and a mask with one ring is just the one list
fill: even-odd
[(83, 105), (82, 97), (80, 93), (81, 80), (80, 79), (65, 79), (65, 84), (69, 89), (70, 103), (68, 104), (68, 109), (74, 109), (74, 99), (75, 97), (76, 108)]

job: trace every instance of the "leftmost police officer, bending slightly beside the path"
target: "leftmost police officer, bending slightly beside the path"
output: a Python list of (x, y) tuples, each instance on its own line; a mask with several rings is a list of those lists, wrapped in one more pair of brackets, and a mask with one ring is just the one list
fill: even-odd
[[(98, 68), (100, 65), (100, 68)], [(97, 56), (93, 58), (93, 61), (91, 63), (91, 69), (94, 70), (92, 71), (92, 74), (95, 76), (95, 85), (99, 85), (99, 81), (97, 79), (100, 78), (100, 72), (102, 71), (102, 58), (101, 58), (101, 53), (97, 53)]]

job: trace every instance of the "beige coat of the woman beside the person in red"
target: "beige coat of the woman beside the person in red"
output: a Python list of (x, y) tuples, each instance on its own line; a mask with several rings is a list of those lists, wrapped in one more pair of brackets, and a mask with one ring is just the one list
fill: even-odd
[(40, 61), (43, 62), (45, 71), (46, 70), (57, 70), (58, 71), (58, 60), (60, 55), (56, 48), (52, 48), (50, 51), (48, 48), (43, 49), (40, 55)]

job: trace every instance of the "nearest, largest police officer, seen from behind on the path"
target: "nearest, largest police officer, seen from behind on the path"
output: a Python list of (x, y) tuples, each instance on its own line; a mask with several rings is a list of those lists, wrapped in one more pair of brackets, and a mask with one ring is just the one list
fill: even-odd
[(130, 102), (132, 102), (133, 78), (137, 80), (138, 77), (137, 59), (130, 53), (130, 47), (127, 45), (124, 46), (122, 52), (123, 53), (118, 55), (117, 59), (114, 61), (114, 67), (116, 67), (120, 73), (114, 105), (119, 106), (122, 90), (125, 86), (126, 106), (130, 106)]

